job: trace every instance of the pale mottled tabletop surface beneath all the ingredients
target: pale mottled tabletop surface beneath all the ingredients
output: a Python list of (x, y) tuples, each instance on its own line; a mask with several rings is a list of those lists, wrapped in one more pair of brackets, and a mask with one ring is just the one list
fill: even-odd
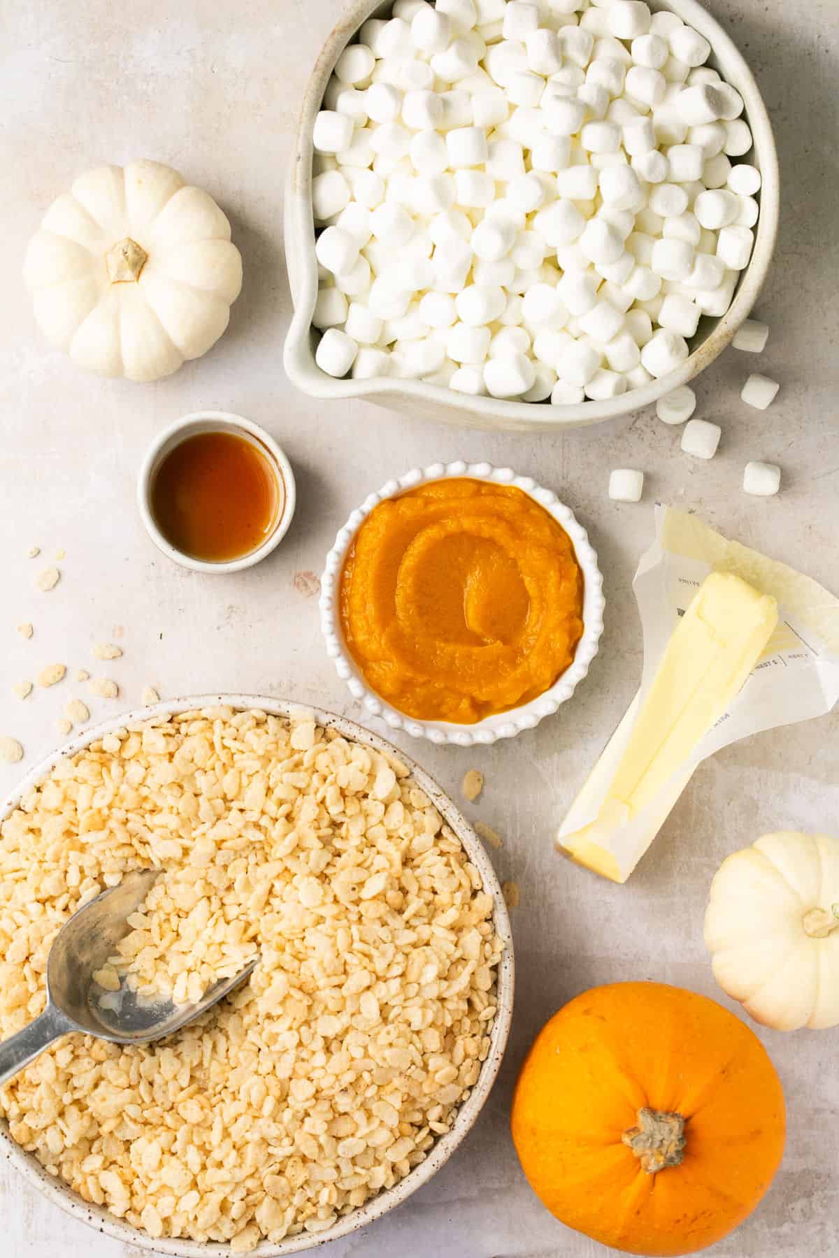
[[(487, 789), (467, 809), (504, 835), (493, 855), (521, 884), (514, 1029), (502, 1077), (465, 1145), (406, 1205), (322, 1250), (333, 1258), (595, 1258), (531, 1195), (507, 1133), (516, 1071), (541, 1023), (596, 982), (650, 977), (721, 998), (702, 945), (711, 876), (722, 857), (777, 828), (839, 830), (839, 713), (728, 749), (697, 772), (653, 850), (625, 887), (551, 852), (551, 830), (631, 697), (640, 638), (630, 579), (652, 535), (655, 497), (699, 511), (723, 531), (794, 564), (839, 593), (839, 447), (835, 399), (839, 196), (839, 5), (709, 0), (751, 62), (776, 128), (781, 234), (758, 313), (767, 352), (727, 351), (698, 384), (698, 414), (723, 428), (711, 464), (679, 452), (679, 430), (644, 411), (565, 437), (459, 434), (364, 404), (309, 401), (286, 382), (289, 314), (282, 187), (297, 102), (337, 0), (4, 0), (0, 8), (0, 731), (26, 764), (58, 740), (64, 682), (25, 704), (10, 687), (43, 664), (91, 667), (89, 647), (122, 633), (125, 659), (101, 669), (125, 703), (153, 683), (166, 697), (214, 689), (296, 696), (358, 716), (326, 659), (314, 598), (294, 586), (321, 570), (336, 530), (369, 491), (418, 463), (489, 459), (556, 489), (590, 528), (608, 596), (601, 654), (575, 699), (536, 732), (483, 751), (413, 746), (457, 795), (463, 771)], [(146, 156), (179, 167), (218, 198), (244, 254), (230, 330), (204, 360), (157, 385), (99, 380), (40, 340), (20, 281), (29, 234), (74, 175)], [(781, 381), (771, 410), (746, 408), (746, 374)], [(152, 435), (201, 406), (265, 424), (298, 477), (297, 520), (275, 555), (235, 577), (204, 577), (164, 560), (133, 506)], [(784, 469), (780, 498), (746, 497), (748, 459)], [(606, 498), (609, 469), (647, 472), (640, 506)], [(62, 584), (33, 591), (39, 561), (67, 550)], [(25, 643), (15, 633), (35, 623)], [(94, 701), (96, 717), (116, 704)], [(0, 766), (0, 793), (16, 769)], [(725, 1001), (725, 998), (721, 998)], [(732, 1006), (733, 1008), (733, 1006)], [(761, 1032), (789, 1101), (786, 1157), (769, 1198), (720, 1258), (839, 1254), (839, 1030)], [(138, 1258), (68, 1220), (0, 1170), (4, 1258)]]

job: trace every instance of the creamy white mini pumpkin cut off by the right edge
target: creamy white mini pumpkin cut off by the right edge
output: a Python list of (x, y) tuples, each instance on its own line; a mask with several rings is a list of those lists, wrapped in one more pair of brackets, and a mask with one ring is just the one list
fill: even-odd
[(839, 1024), (839, 839), (766, 834), (711, 883), (704, 941), (720, 986), (776, 1030)]

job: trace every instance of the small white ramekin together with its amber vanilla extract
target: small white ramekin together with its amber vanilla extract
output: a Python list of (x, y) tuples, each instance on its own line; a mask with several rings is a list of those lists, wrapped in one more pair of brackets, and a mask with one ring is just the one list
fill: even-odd
[(165, 429), (137, 481), (151, 540), (199, 572), (258, 564), (286, 535), (294, 502), (294, 473), (277, 442), (221, 410), (196, 411)]

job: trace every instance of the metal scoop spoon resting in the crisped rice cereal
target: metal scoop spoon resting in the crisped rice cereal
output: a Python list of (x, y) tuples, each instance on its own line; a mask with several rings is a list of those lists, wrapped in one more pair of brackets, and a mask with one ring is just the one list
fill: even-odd
[(166, 996), (137, 996), (125, 981), (112, 993), (93, 982), (93, 974), (131, 930), (126, 918), (143, 902), (160, 872), (127, 873), (117, 887), (103, 891), (62, 926), (47, 959), (47, 1008), (0, 1043), (0, 1086), (68, 1032), (97, 1035), (112, 1044), (146, 1044), (186, 1027), (248, 977), (259, 957), (231, 979), (214, 982), (199, 1001), (182, 1005)]

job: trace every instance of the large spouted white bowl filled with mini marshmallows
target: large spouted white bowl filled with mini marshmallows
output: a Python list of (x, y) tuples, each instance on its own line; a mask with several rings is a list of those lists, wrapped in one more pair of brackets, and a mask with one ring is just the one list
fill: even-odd
[(766, 108), (696, 0), (356, 0), (289, 170), (286, 370), (463, 426), (613, 419), (731, 341), (777, 213)]

